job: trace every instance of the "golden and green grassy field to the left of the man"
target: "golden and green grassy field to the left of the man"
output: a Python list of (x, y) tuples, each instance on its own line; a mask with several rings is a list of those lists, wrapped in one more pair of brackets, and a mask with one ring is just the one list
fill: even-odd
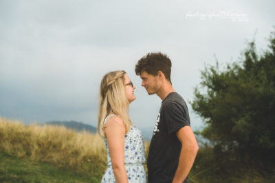
[(1, 117), (0, 158), (0, 182), (100, 182), (107, 168), (104, 141), (96, 134)]

